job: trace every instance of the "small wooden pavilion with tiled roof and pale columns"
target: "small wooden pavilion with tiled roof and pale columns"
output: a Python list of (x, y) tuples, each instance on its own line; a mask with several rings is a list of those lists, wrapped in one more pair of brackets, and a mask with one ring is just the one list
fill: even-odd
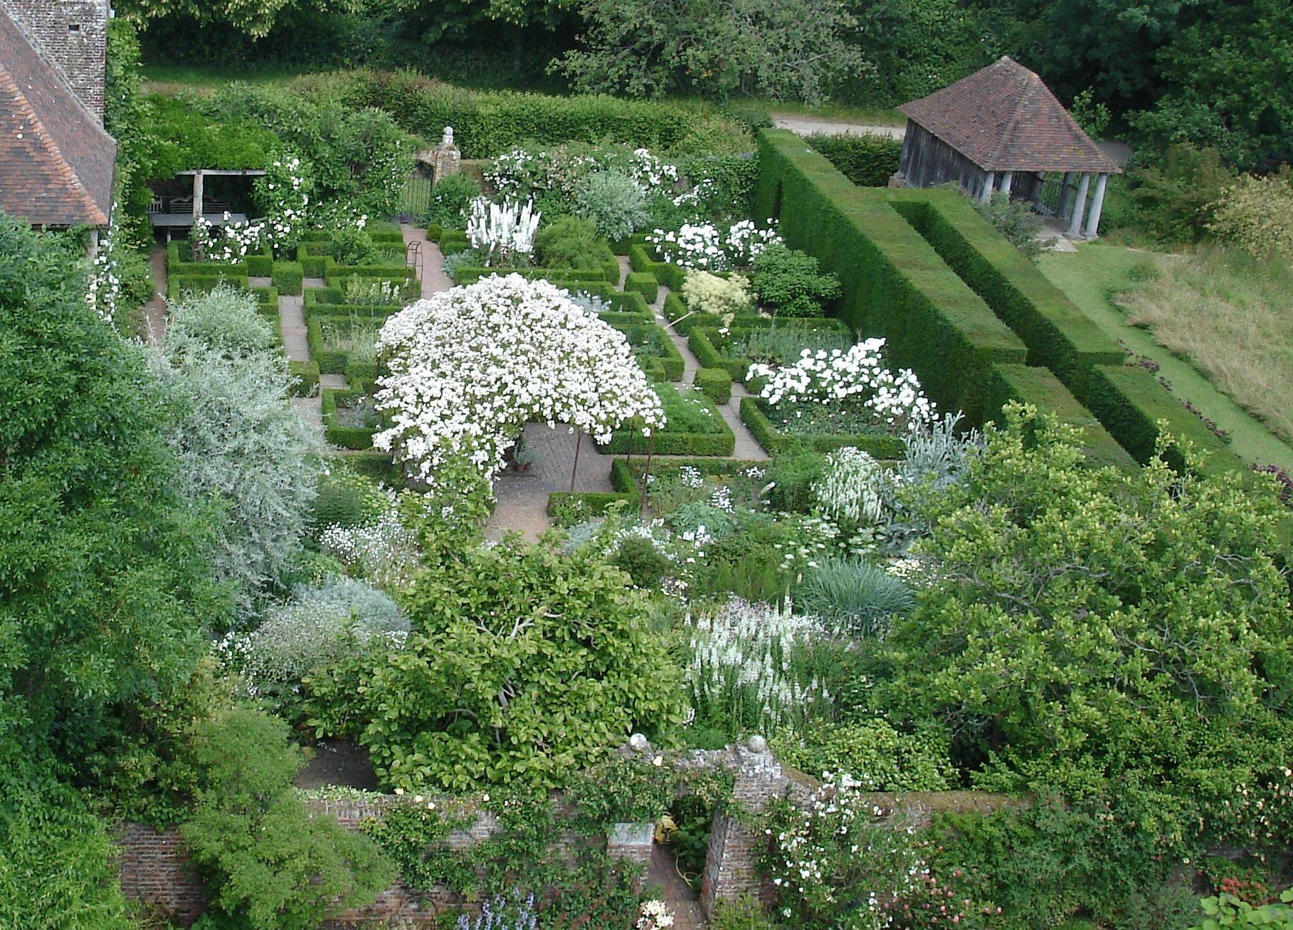
[(999, 191), (1068, 219), (1071, 235), (1096, 234), (1106, 181), (1120, 168), (1019, 62), (1002, 56), (899, 109), (908, 119), (896, 176), (904, 185), (954, 182), (983, 199)]

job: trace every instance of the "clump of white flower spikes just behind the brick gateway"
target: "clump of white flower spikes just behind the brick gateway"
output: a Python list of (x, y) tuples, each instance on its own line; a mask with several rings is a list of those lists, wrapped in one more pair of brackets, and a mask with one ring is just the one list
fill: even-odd
[(689, 617), (688, 626), (687, 684), (701, 714), (767, 733), (830, 701), (796, 661), (821, 635), (815, 618), (732, 598), (711, 616)]

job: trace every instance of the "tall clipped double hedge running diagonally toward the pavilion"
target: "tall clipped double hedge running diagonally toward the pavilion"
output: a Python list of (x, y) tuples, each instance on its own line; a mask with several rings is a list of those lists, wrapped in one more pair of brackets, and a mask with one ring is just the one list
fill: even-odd
[(839, 316), (883, 336), (944, 409), (983, 423), (1031, 402), (1082, 427), (1096, 460), (1124, 463), (1152, 457), (1166, 419), (1208, 453), (1205, 471), (1250, 473), (958, 193), (859, 188), (794, 133), (764, 129), (756, 198), (756, 216), (839, 277)]

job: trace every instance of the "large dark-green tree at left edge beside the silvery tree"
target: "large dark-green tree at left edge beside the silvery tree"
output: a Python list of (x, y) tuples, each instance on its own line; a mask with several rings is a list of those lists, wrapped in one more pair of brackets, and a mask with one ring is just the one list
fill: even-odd
[(74, 247), (0, 215), (0, 732), (74, 771), (181, 689), (226, 604), (167, 404)]

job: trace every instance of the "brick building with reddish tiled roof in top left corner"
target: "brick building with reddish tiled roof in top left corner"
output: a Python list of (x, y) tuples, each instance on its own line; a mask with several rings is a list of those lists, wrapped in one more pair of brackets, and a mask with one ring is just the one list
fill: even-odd
[(39, 226), (109, 224), (107, 0), (0, 0), (0, 208)]

